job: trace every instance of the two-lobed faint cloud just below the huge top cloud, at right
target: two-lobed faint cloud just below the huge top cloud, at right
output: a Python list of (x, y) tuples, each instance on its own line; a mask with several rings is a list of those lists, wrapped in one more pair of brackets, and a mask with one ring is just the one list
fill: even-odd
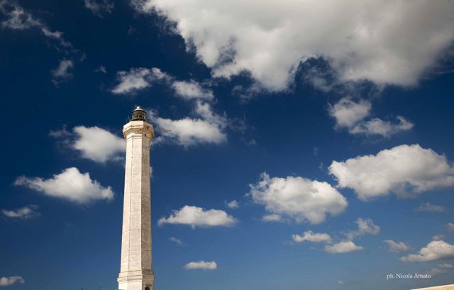
[(328, 113), (336, 120), (336, 128), (346, 128), (350, 134), (379, 135), (390, 137), (402, 131), (410, 130), (414, 124), (402, 116), (397, 116), (398, 123), (371, 118), (372, 104), (370, 101), (353, 100), (345, 97), (328, 108)]

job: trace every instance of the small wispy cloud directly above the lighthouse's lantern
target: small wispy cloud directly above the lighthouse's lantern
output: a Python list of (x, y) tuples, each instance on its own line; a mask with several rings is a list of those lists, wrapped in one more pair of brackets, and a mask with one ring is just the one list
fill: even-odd
[(118, 84), (111, 90), (114, 94), (130, 94), (140, 89), (151, 87), (153, 82), (167, 79), (169, 76), (160, 69), (153, 67), (133, 67), (128, 72), (120, 71), (116, 73)]

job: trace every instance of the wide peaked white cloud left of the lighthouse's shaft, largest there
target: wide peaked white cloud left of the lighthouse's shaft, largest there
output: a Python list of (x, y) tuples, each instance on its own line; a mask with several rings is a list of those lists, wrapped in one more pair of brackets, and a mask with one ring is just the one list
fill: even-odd
[(81, 173), (76, 167), (67, 168), (60, 174), (54, 174), (50, 179), (18, 177), (14, 184), (43, 192), (47, 196), (67, 199), (80, 204), (114, 199), (111, 186), (101, 186), (99, 182), (90, 178), (88, 172)]

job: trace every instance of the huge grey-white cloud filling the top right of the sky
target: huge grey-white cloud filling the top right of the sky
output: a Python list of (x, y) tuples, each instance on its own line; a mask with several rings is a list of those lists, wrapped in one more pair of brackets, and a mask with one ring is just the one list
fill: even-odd
[(312, 58), (344, 82), (414, 85), (454, 39), (449, 1), (131, 2), (175, 22), (214, 76), (247, 71), (270, 90), (286, 89)]

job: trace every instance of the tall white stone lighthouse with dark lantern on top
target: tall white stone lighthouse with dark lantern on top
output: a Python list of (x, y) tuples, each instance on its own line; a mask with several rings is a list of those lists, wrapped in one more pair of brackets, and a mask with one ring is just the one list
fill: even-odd
[(118, 289), (153, 290), (151, 265), (150, 144), (155, 136), (139, 106), (123, 126), (126, 138), (125, 194)]

